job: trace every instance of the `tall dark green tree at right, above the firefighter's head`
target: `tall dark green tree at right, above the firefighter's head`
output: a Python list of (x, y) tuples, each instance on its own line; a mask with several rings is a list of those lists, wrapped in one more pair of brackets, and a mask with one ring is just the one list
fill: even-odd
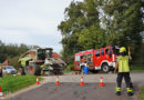
[(131, 46), (133, 52), (142, 44), (141, 33), (144, 31), (141, 0), (103, 1), (103, 24), (107, 34), (114, 36), (112, 43)]

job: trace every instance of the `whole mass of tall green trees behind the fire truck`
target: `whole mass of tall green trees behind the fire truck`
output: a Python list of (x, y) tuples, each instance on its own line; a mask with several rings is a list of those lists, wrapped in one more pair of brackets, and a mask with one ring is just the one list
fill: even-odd
[(72, 1), (58, 26), (63, 37), (62, 57), (72, 63), (75, 52), (116, 44), (130, 46), (137, 59), (144, 36), (143, 7), (141, 0)]

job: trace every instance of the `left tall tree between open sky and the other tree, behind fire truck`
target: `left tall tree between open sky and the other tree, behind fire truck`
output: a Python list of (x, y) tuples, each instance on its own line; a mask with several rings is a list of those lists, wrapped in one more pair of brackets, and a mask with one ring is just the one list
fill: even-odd
[[(65, 9), (65, 20), (62, 21), (58, 29), (61, 30), (63, 58), (72, 58), (73, 54), (81, 50), (95, 48), (95, 39), (102, 37), (99, 24), (99, 11), (95, 0), (84, 0), (84, 2), (72, 1)], [(97, 30), (95, 32), (95, 30)], [(88, 36), (92, 32), (93, 36)], [(100, 34), (99, 34), (100, 33)], [(94, 40), (91, 38), (93, 37)], [(86, 42), (89, 41), (89, 42)], [(86, 46), (84, 46), (86, 42)], [(101, 43), (96, 41), (96, 44)], [(89, 47), (89, 48), (88, 48)], [(65, 59), (66, 60), (66, 59)]]

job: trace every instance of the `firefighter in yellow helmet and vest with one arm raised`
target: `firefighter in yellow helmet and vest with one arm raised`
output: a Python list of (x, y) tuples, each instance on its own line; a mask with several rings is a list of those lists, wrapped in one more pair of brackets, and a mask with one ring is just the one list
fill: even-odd
[(117, 58), (117, 62), (114, 70), (114, 73), (116, 73), (116, 70), (119, 69), (116, 78), (117, 87), (115, 94), (121, 96), (121, 83), (124, 77), (127, 94), (133, 96), (132, 83), (130, 78), (130, 67), (128, 67), (128, 58), (132, 59), (131, 53), (126, 56), (126, 49), (122, 47), (120, 48), (120, 54), (121, 56)]

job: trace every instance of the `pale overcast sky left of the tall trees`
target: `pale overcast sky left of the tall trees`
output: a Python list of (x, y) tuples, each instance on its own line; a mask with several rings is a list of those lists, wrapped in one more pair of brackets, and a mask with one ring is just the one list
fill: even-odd
[[(0, 40), (62, 50), (58, 24), (72, 0), (0, 0)], [(83, 0), (74, 0), (83, 1)]]

